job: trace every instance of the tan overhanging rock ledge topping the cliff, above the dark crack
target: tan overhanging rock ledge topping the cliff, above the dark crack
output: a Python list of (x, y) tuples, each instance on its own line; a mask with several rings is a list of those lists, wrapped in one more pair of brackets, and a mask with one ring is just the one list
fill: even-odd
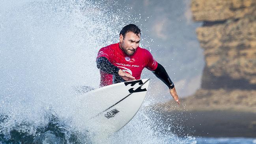
[(256, 14), (255, 0), (192, 0), (194, 21), (223, 21)]

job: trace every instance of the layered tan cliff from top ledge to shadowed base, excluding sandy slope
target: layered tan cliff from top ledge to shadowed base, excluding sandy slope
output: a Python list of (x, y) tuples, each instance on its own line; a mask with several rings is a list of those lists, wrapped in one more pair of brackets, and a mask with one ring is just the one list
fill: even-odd
[(206, 59), (203, 88), (213, 80), (219, 87), (237, 89), (240, 82), (256, 89), (256, 1), (193, 0), (191, 9), (194, 20), (205, 21), (196, 30)]

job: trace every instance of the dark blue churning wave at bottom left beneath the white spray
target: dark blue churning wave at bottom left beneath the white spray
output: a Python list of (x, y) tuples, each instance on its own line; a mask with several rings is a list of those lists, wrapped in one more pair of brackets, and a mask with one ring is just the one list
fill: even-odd
[[(0, 114), (0, 142), (4, 144), (84, 144), (91, 143), (88, 131), (82, 133), (73, 129), (70, 120), (62, 120), (53, 111), (45, 115), (46, 124), (34, 125), (32, 122), (11, 119)], [(11, 124), (11, 122), (15, 122)]]

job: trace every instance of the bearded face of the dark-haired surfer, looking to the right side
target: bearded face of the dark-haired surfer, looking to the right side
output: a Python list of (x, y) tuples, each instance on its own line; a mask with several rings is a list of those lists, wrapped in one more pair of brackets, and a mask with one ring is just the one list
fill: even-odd
[(136, 49), (139, 46), (140, 42), (140, 34), (135, 34), (133, 32), (128, 32), (125, 34), (125, 38), (123, 35), (120, 35), (120, 48), (123, 52), (129, 56), (133, 55)]

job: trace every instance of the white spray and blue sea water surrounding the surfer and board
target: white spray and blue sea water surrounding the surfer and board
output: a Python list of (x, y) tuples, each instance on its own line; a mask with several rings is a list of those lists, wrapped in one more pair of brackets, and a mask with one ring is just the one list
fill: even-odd
[(110, 137), (95, 138), (87, 129), (86, 109), (72, 87), (97, 88), (99, 48), (117, 42), (123, 25), (145, 21), (129, 18), (126, 9), (105, 0), (0, 1), (0, 144), (225, 141), (191, 137), (171, 115), (164, 119), (173, 123), (164, 124), (157, 111), (148, 109), (149, 98), (131, 122)]

